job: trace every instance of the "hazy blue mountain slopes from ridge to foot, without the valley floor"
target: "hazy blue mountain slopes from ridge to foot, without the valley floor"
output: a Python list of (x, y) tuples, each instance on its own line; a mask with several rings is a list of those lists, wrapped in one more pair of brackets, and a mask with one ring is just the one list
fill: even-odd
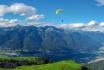
[[(101, 47), (104, 33), (52, 26), (0, 28), (0, 49), (29, 51), (92, 51)], [(97, 39), (96, 39), (97, 38)], [(94, 42), (93, 42), (94, 41)], [(92, 47), (94, 46), (94, 47)]]

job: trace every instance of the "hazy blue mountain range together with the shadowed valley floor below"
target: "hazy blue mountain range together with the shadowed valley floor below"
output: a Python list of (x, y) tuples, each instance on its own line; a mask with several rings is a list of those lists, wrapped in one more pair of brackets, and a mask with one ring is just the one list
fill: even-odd
[[(49, 59), (89, 61), (103, 46), (104, 33), (53, 26), (0, 27), (1, 54), (43, 56)], [(4, 52), (5, 51), (5, 52)]]

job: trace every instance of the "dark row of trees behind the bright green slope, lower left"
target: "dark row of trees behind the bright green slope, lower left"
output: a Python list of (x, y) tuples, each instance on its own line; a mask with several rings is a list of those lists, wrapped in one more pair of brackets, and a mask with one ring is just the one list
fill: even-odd
[(17, 58), (0, 58), (1, 68), (15, 68), (23, 65), (41, 65), (47, 64), (50, 61), (47, 59), (36, 57), (17, 57)]

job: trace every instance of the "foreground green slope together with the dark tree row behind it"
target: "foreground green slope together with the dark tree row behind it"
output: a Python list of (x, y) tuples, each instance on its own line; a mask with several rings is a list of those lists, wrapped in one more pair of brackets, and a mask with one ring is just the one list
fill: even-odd
[(88, 70), (71, 60), (50, 62), (38, 57), (0, 58), (0, 70)]

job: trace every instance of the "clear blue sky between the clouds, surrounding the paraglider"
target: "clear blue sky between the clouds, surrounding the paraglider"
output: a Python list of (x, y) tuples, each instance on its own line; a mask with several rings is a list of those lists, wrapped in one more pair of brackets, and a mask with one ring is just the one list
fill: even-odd
[[(104, 21), (104, 0), (0, 0), (0, 5), (10, 6), (14, 3), (23, 3), (36, 8), (37, 14), (43, 14), (41, 22), (61, 23), (87, 23), (91, 20)], [(100, 6), (98, 6), (98, 4)], [(62, 15), (55, 14), (56, 9), (64, 9)], [(18, 14), (7, 13), (5, 19), (25, 19)]]

